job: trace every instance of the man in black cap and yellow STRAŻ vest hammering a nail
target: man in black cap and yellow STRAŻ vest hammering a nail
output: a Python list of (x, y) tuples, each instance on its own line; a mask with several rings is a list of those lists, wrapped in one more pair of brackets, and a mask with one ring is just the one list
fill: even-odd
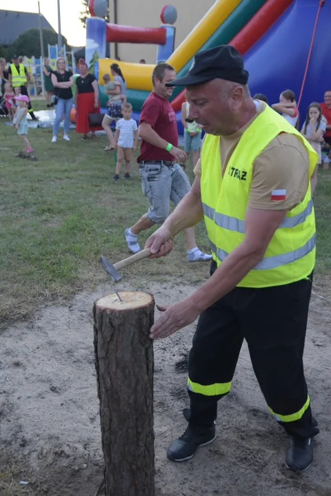
[(188, 360), (188, 428), (168, 448), (170, 459), (183, 462), (214, 441), (217, 402), (230, 391), (245, 339), (265, 401), (291, 437), (285, 464), (305, 471), (319, 433), (303, 373), (317, 153), (265, 102), (254, 101), (247, 83), (230, 45), (196, 54), (188, 74), (170, 83), (186, 87), (189, 116), (206, 135), (191, 191), (146, 247), (163, 256), (173, 236), (204, 219), (213, 260), (210, 279), (191, 296), (159, 306), (150, 337), (165, 338), (199, 316)]

